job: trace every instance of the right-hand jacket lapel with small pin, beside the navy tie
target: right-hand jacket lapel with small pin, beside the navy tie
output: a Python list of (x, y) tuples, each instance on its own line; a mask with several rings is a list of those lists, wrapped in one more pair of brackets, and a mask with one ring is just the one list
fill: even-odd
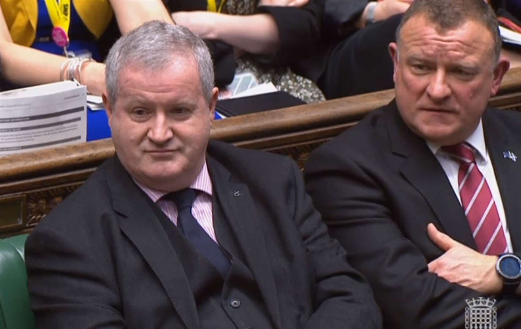
[[(250, 190), (246, 184), (236, 181), (224, 166), (208, 157), (208, 170), (214, 187), (214, 202), (218, 201), (230, 226), (235, 231), (246, 262), (255, 277), (266, 308), (277, 327), (281, 326), (277, 289), (271, 271), (263, 228), (255, 214)], [(219, 236), (219, 232), (216, 234)]]

